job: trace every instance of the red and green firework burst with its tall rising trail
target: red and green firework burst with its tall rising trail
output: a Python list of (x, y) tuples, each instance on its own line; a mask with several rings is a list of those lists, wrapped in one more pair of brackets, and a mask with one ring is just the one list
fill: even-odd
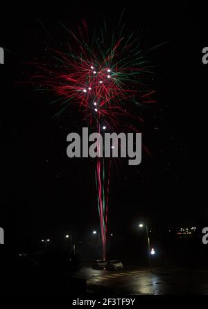
[[(107, 31), (104, 22), (99, 33), (94, 33), (89, 39), (86, 21), (83, 21), (78, 33), (67, 29), (73, 48), (70, 44), (66, 52), (51, 49), (55, 55), (55, 66), (37, 64), (41, 73), (33, 77), (58, 96), (55, 102), (60, 103), (61, 108), (56, 116), (73, 104), (78, 106), (91, 132), (139, 132), (137, 125), (129, 123), (130, 119), (137, 124), (143, 122), (136, 109), (144, 103), (154, 103), (154, 91), (147, 89), (142, 82), (151, 72), (139, 41), (133, 39), (133, 34), (125, 39), (123, 28), (119, 24), (119, 31), (112, 33)], [(111, 166), (111, 159), (96, 158), (95, 177), (104, 259)]]

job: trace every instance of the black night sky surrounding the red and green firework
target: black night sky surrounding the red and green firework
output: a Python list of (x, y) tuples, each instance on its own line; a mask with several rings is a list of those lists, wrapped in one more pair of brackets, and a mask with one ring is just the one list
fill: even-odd
[[(165, 3), (165, 2), (164, 2)], [(130, 229), (141, 217), (151, 224), (179, 226), (207, 220), (207, 46), (203, 8), (150, 1), (79, 1), (38, 6), (5, 6), (0, 46), (6, 48), (1, 74), (1, 159), (3, 215), (9, 235), (38, 238), (56, 231), (89, 233), (98, 227), (93, 162), (69, 159), (67, 134), (82, 125), (78, 115), (51, 118), (50, 95), (22, 83), (26, 65), (52, 46), (69, 40), (60, 23), (90, 29), (105, 17), (112, 26), (125, 6), (126, 29), (135, 30), (154, 65), (157, 103), (142, 112), (144, 141), (151, 152), (139, 167), (122, 163), (112, 170), (110, 230)], [(38, 21), (39, 20), (39, 21)], [(53, 45), (54, 46), (54, 45)], [(125, 228), (124, 228), (125, 227)]]

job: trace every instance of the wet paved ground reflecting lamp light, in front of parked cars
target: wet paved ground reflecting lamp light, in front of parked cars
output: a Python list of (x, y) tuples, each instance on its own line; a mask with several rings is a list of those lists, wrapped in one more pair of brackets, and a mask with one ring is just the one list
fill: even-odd
[(119, 271), (92, 270), (84, 266), (78, 276), (87, 279), (89, 292), (136, 295), (208, 295), (207, 270), (189, 271), (184, 268), (127, 268)]

